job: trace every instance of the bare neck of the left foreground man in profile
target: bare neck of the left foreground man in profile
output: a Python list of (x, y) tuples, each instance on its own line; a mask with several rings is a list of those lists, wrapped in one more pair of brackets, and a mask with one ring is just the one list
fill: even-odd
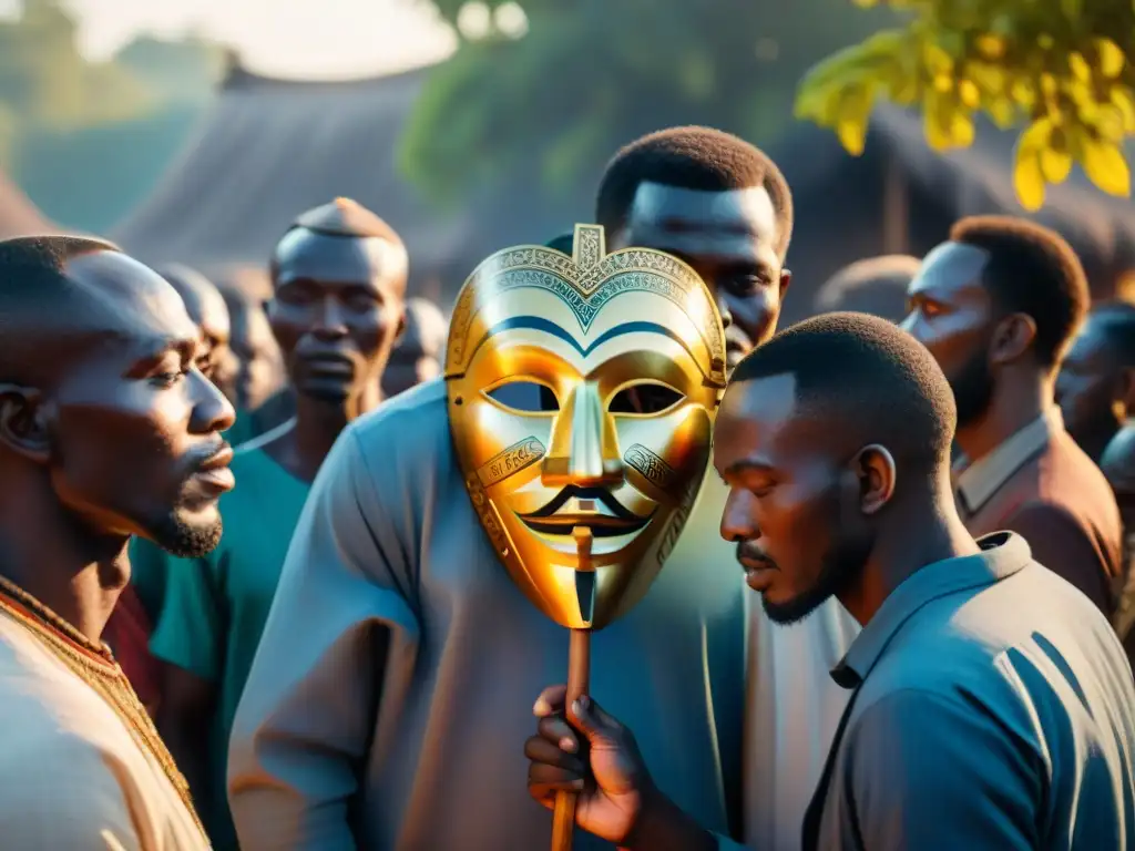
[(131, 578), (129, 537), (92, 534), (59, 504), (45, 477), (5, 479), (0, 575), (98, 642)]

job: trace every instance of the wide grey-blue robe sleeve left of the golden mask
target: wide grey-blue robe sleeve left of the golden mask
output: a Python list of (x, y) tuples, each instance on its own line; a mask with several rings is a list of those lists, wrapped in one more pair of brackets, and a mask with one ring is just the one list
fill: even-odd
[(348, 800), (379, 698), (404, 701), (419, 642), (400, 475), (387, 458), (368, 465), (348, 427), (312, 485), (229, 743), (245, 851), (355, 848)]

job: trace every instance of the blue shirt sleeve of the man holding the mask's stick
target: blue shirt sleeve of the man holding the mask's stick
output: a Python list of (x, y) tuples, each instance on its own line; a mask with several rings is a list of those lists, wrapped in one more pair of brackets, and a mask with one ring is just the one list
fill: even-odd
[(897, 691), (849, 726), (839, 811), (869, 851), (1039, 848), (1041, 773), (977, 703)]

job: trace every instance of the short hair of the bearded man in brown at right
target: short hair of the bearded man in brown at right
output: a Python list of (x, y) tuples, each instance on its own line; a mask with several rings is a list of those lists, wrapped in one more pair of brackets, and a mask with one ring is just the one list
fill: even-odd
[(983, 283), (994, 304), (1033, 318), (1036, 360), (1056, 366), (1091, 302), (1084, 268), (1071, 246), (1054, 230), (1011, 216), (961, 219), (950, 239), (990, 255)]

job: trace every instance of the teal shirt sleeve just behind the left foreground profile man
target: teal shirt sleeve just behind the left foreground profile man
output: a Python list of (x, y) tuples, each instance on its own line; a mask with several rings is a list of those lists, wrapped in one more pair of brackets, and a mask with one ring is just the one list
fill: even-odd
[(221, 558), (217, 550), (205, 558), (168, 559), (161, 614), (150, 637), (154, 657), (210, 682), (220, 679), (225, 647), (222, 601), (212, 581)]

